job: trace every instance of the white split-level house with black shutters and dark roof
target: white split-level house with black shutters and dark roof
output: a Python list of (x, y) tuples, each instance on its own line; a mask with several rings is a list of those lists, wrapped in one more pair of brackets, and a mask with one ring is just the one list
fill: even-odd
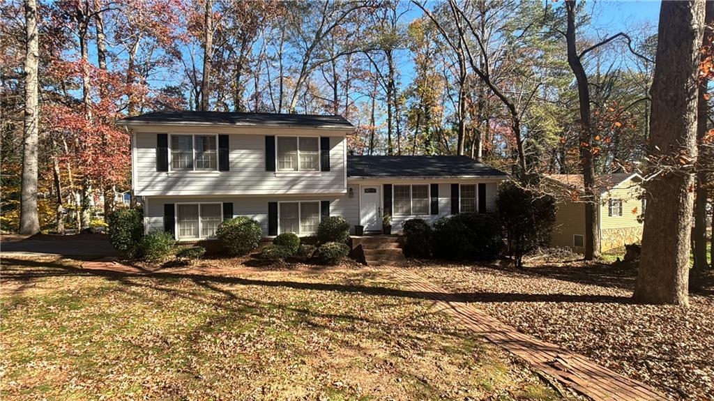
[(347, 156), (354, 127), (339, 116), (166, 111), (118, 124), (146, 232), (177, 240), (213, 238), (238, 215), (271, 237), (314, 234), (326, 215), (376, 233), (386, 211), (399, 233), (409, 218), (493, 210), (506, 179), (466, 156)]

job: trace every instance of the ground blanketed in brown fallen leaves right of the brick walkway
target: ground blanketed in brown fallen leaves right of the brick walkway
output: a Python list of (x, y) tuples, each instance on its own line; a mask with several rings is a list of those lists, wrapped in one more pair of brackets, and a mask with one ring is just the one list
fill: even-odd
[(515, 269), (411, 261), (423, 277), (548, 342), (685, 400), (714, 394), (714, 288), (690, 307), (637, 305), (633, 268), (582, 261)]

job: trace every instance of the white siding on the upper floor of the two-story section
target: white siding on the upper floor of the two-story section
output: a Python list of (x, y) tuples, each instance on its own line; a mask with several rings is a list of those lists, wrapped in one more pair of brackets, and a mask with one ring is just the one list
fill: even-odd
[[(174, 135), (172, 133), (171, 138)], [(134, 193), (137, 196), (267, 196), (347, 191), (343, 136), (330, 137), (330, 171), (306, 175), (266, 171), (265, 135), (231, 134), (228, 141), (230, 171), (220, 173), (176, 171), (171, 168), (172, 164), (169, 164), (169, 172), (156, 171), (156, 133), (136, 133), (135, 139)]]

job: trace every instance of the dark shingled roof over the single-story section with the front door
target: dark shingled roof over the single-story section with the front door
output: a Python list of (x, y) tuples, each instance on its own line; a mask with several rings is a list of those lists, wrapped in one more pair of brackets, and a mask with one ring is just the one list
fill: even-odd
[(348, 177), (506, 177), (468, 156), (347, 156)]

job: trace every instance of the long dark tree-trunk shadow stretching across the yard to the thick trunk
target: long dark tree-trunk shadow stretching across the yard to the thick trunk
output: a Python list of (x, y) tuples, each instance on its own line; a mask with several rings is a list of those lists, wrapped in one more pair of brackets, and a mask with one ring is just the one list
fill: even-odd
[[(296, 290), (316, 290), (333, 291), (338, 293), (356, 293), (363, 295), (389, 296), (398, 298), (413, 298), (418, 300), (447, 301), (447, 302), (583, 302), (583, 303), (633, 303), (629, 297), (612, 295), (568, 295), (568, 294), (526, 294), (526, 293), (448, 293), (433, 291), (401, 290), (396, 288), (386, 288), (379, 286), (359, 285), (359, 284), (336, 284), (336, 283), (304, 283), (289, 280), (259, 280), (254, 278), (241, 278), (226, 275), (204, 275), (196, 273), (169, 273), (157, 271), (154, 273), (127, 273), (114, 270), (92, 269), (85, 270), (74, 268), (61, 263), (44, 263), (33, 260), (21, 260), (5, 258), (7, 265), (21, 265), (28, 268), (46, 268), (37, 272), (36, 270), (24, 271), (24, 269), (6, 270), (6, 278), (10, 280), (34, 280), (36, 278), (47, 278), (52, 276), (101, 276), (111, 280), (120, 280), (122, 283), (134, 285), (134, 282), (126, 281), (127, 278), (156, 278), (169, 280), (191, 280), (196, 285), (222, 292), (228, 296), (228, 292), (216, 288), (216, 284), (223, 285), (257, 285), (262, 287), (283, 287)], [(520, 270), (519, 270), (520, 271)], [(9, 274), (8, 274), (9, 273)], [(523, 272), (521, 272), (523, 273)], [(231, 295), (233, 296), (233, 295)]]

